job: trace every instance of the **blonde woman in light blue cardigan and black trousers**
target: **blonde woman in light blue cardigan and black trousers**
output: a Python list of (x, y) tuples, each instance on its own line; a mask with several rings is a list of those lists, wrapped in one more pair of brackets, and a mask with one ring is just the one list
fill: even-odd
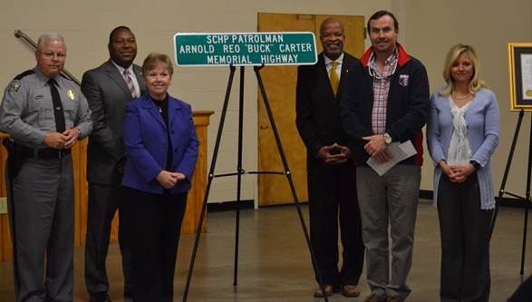
[(427, 124), (440, 218), (440, 299), (487, 302), (498, 102), (480, 81), (479, 60), (469, 45), (450, 49), (443, 77), (447, 86), (432, 95)]

